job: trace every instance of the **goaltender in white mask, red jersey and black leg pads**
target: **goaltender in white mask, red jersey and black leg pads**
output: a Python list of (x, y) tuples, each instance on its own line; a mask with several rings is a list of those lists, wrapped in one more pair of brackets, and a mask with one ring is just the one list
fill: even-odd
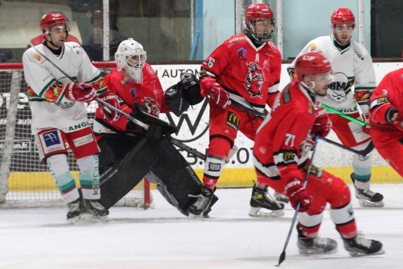
[[(139, 42), (132, 38), (124, 40), (115, 53), (117, 68), (105, 76), (108, 89), (121, 99), (123, 112), (149, 128), (146, 130), (124, 116), (111, 121), (104, 117), (102, 109), (96, 111), (94, 132), (101, 148), (101, 184), (107, 189), (100, 203), (111, 207), (146, 176), (157, 184), (171, 205), (188, 216), (189, 206), (201, 193), (201, 182), (169, 141), (176, 128), (158, 117), (169, 112), (180, 116), (204, 97), (200, 95), (199, 81), (190, 73), (183, 74), (180, 82), (164, 92), (157, 73), (146, 59), (146, 51)], [(214, 195), (210, 208), (217, 200)]]

